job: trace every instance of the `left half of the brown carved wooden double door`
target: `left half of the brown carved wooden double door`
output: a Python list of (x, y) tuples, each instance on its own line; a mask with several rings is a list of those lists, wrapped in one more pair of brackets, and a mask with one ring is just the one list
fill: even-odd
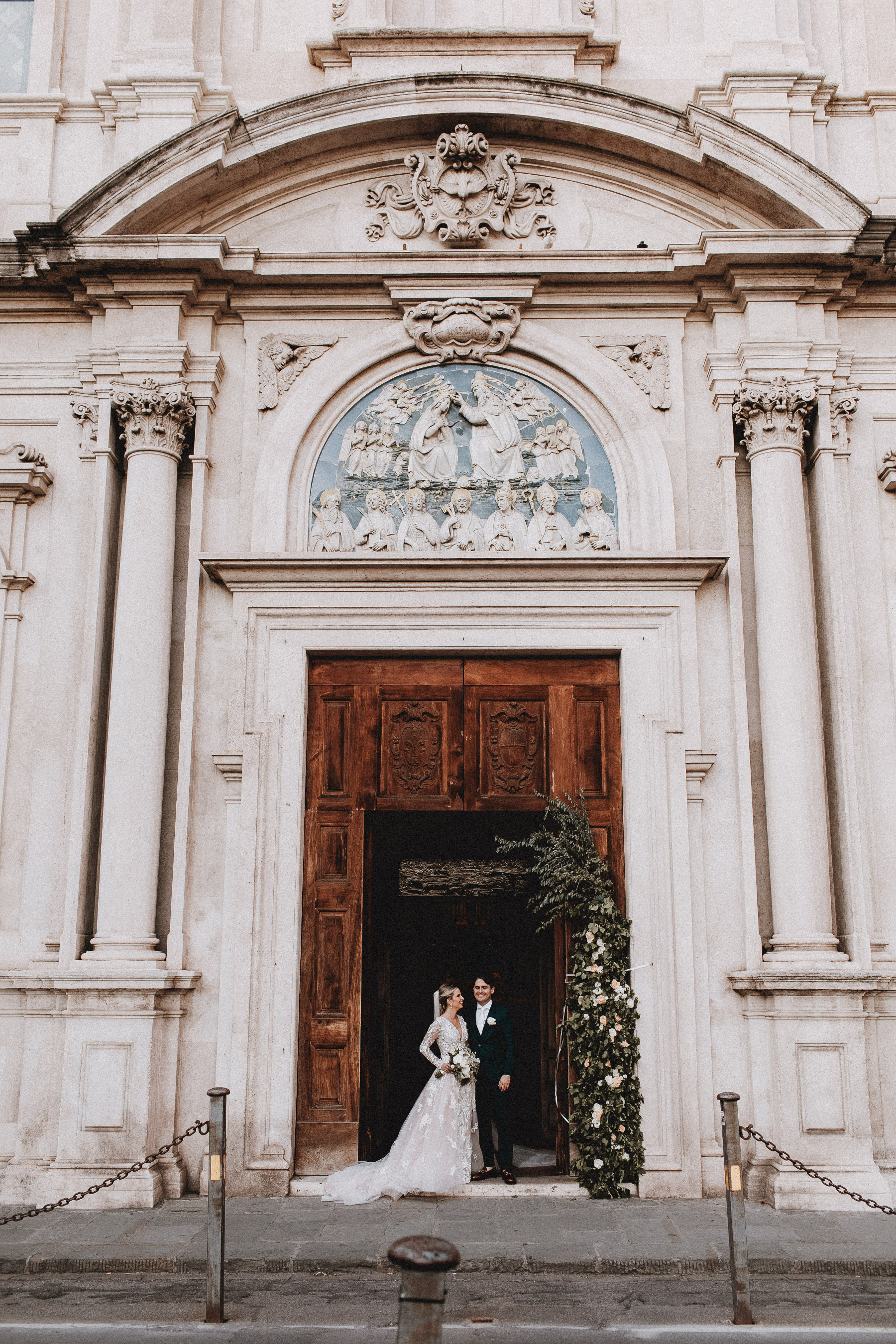
[(357, 1157), (364, 813), (462, 808), (459, 660), (309, 669), (297, 1172)]

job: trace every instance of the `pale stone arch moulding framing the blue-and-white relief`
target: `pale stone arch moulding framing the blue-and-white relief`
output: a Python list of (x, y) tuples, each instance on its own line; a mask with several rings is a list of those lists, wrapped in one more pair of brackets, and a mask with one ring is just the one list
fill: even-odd
[[(376, 388), (407, 380), (431, 366), (431, 359), (407, 345), (404, 328), (384, 321), (375, 343), (369, 332), (340, 340), (302, 375), (304, 395), (286, 401), (262, 442), (253, 508), (254, 552), (308, 548), (314, 470), (333, 431)], [(524, 320), (509, 352), (482, 368), (494, 376), (513, 372), (543, 384), (555, 394), (555, 403), (574, 409), (591, 427), (615, 487), (614, 523), (621, 550), (676, 548), (672, 480), (657, 413), (617, 364), (596, 353), (586, 337), (560, 336)]]

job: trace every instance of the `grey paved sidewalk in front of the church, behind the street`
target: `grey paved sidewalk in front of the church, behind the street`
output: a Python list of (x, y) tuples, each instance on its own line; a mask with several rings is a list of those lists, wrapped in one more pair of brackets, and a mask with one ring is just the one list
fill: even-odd
[[(0, 1273), (204, 1273), (207, 1202), (59, 1210), (0, 1227)], [(12, 1212), (0, 1206), (0, 1214)], [(759, 1274), (896, 1277), (896, 1218), (775, 1212), (747, 1204)], [(723, 1199), (402, 1199), (345, 1208), (313, 1199), (228, 1199), (227, 1267), (243, 1273), (388, 1269), (398, 1236), (458, 1246), (462, 1270), (580, 1274), (727, 1271)]]

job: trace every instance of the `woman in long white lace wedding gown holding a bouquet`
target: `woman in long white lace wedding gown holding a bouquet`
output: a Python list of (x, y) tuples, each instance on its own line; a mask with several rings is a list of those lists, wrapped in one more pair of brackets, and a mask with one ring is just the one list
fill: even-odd
[[(466, 1044), (466, 1023), (459, 1016), (463, 995), (457, 985), (441, 985), (439, 1016), (420, 1043), (420, 1054), (438, 1070), (416, 1099), (386, 1157), (355, 1163), (333, 1172), (325, 1200), (365, 1204), (382, 1195), (454, 1195), (470, 1180), (476, 1083), (465, 1087), (443, 1060)], [(438, 1044), (441, 1059), (433, 1054)]]

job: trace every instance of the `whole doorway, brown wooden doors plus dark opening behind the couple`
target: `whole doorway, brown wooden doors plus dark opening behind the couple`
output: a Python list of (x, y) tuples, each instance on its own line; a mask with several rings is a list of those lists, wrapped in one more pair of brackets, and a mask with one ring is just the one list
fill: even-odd
[(426, 1081), (433, 992), (451, 974), (469, 993), (482, 954), (523, 1009), (519, 1141), (553, 1134), (568, 1173), (551, 1055), (570, 931), (535, 934), (494, 836), (582, 792), (625, 899), (618, 659), (312, 659), (308, 704), (297, 1177), (388, 1149)]

